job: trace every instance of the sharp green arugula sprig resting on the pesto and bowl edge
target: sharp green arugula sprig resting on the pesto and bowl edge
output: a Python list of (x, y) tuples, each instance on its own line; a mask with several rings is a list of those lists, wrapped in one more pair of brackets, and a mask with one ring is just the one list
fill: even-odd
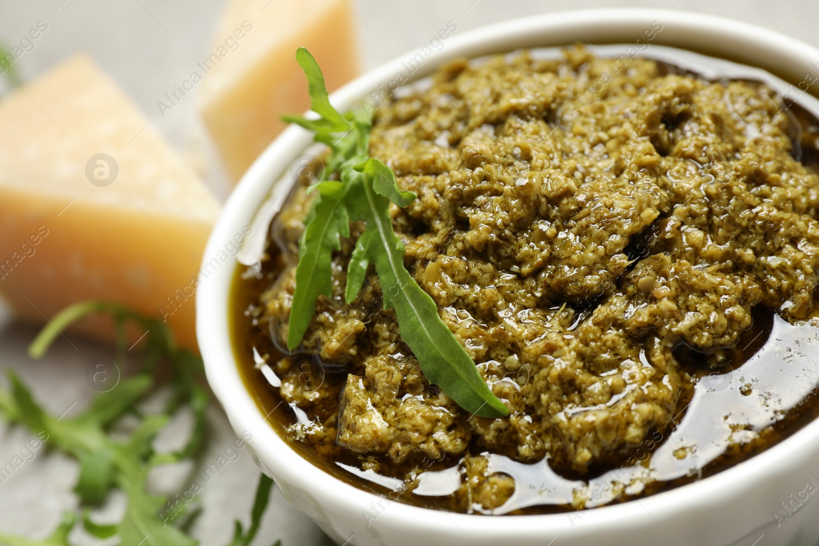
[[(359, 221), (366, 230), (356, 241), (348, 265), (346, 302), (355, 300), (369, 264), (374, 264), (384, 307), (395, 310), (401, 339), (418, 358), (428, 381), (468, 412), (482, 417), (508, 415), (509, 410), (492, 394), (464, 347), (438, 316), (432, 297), (404, 267), (405, 248), (392, 231), (389, 205), (405, 207), (415, 194), (402, 191), (392, 170), (369, 157), (369, 116), (358, 111), (342, 115), (333, 108), (319, 65), (304, 47), (296, 51), (296, 61), (307, 77), (312, 110), (320, 117), (308, 120), (286, 115), (283, 120), (314, 131), (314, 140), (328, 145), (331, 155), (322, 180), (309, 190), (318, 196), (301, 236), (287, 348), (293, 350), (301, 343), (317, 298), (332, 296), (333, 250), (341, 248), (339, 237), (350, 237), (351, 220)], [(328, 180), (333, 173), (338, 174), (337, 181)]]

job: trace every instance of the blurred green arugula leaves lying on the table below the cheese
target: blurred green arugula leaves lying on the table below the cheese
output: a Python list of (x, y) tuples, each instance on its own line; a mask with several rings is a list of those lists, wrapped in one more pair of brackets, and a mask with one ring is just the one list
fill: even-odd
[[(40, 358), (61, 332), (88, 314), (110, 314), (117, 330), (117, 361), (124, 367), (128, 352), (127, 324), (146, 331), (142, 342), (141, 367), (133, 376), (120, 381), (108, 392), (98, 394), (88, 409), (72, 418), (57, 418), (48, 413), (31, 394), (20, 377), (8, 372), (10, 389), (0, 388), (0, 415), (8, 422), (26, 426), (34, 434), (47, 439), (48, 449), (58, 449), (79, 462), (79, 478), (75, 493), (80, 504), (87, 508), (102, 503), (113, 489), (127, 497), (123, 519), (115, 525), (100, 525), (88, 517), (88, 512), (66, 512), (54, 533), (46, 539), (34, 540), (0, 533), (0, 544), (8, 546), (70, 546), (69, 534), (76, 521), (99, 539), (114, 535), (120, 544), (142, 546), (196, 546), (196, 539), (188, 535), (196, 512), (184, 513), (184, 507), (175, 514), (181, 516), (180, 526), (167, 525), (160, 517), (168, 499), (146, 490), (149, 472), (160, 464), (177, 463), (183, 458), (196, 458), (206, 440), (206, 407), (210, 393), (204, 382), (201, 358), (174, 344), (167, 325), (158, 318), (148, 318), (121, 305), (101, 300), (81, 302), (61, 311), (29, 346), (29, 355)], [(160, 364), (171, 372), (172, 394), (160, 413), (145, 415), (138, 409), (140, 399), (157, 386)], [(193, 415), (192, 432), (187, 444), (176, 453), (156, 453), (152, 440), (178, 408), (187, 405)], [(110, 426), (130, 413), (139, 418), (138, 425), (126, 439), (112, 437)], [(268, 503), (273, 484), (262, 475), (254, 501), (251, 526), (242, 530), (235, 523), (233, 540), (228, 546), (247, 546), (256, 536), (260, 518)], [(278, 542), (277, 542), (278, 544)]]

